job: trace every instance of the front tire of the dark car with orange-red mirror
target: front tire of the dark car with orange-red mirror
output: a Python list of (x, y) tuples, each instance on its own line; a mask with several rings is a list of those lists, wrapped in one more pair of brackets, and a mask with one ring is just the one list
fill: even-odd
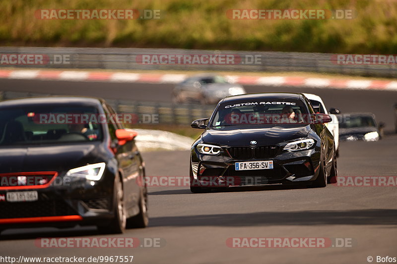
[(114, 218), (109, 225), (99, 225), (98, 231), (101, 234), (120, 234), (126, 230), (126, 208), (124, 205), (124, 189), (123, 183), (120, 177), (116, 176), (115, 187), (114, 187)]

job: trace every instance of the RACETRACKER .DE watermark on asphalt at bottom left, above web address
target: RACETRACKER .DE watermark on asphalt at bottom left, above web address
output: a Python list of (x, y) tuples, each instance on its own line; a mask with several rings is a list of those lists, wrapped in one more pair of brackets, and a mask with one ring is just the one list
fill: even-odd
[(159, 237), (49, 237), (34, 241), (38, 248), (161, 248), (165, 244)]

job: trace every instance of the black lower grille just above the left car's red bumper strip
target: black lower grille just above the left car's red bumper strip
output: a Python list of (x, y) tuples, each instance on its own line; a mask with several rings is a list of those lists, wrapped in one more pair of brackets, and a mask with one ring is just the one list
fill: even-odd
[(62, 216), (77, 214), (60, 199), (49, 199), (39, 195), (34, 202), (0, 202), (0, 219), (20, 217)]

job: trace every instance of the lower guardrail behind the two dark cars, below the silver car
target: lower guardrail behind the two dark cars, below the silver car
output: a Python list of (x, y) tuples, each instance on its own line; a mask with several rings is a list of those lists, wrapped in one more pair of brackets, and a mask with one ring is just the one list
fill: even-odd
[[(48, 97), (51, 94), (0, 91), (0, 101), (26, 97)], [(57, 95), (59, 96), (59, 95)], [(66, 95), (67, 97), (67, 95)], [(117, 113), (135, 114), (140, 124), (190, 125), (193, 120), (209, 117), (214, 106), (195, 104), (174, 105), (171, 103), (138, 102), (106, 99)]]

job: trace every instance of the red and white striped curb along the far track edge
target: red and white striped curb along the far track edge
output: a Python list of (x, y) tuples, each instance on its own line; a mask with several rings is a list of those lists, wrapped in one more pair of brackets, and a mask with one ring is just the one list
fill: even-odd
[[(3, 79), (35, 79), (64, 81), (104, 81), (121, 83), (179, 83), (188, 74), (157, 74), (95, 71), (56, 71), (56, 70), (0, 70)], [(296, 86), (309, 88), (340, 88), (352, 90), (397, 91), (397, 81), (387, 80), (348, 80), (328, 78), (305, 78), (289, 76), (248, 76), (226, 75), (233, 83), (242, 85)]]

